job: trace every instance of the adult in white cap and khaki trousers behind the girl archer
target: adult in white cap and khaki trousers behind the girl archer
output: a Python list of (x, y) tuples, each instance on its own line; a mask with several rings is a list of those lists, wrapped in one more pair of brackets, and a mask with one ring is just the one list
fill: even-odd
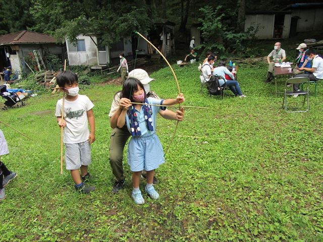
[[(150, 78), (146, 71), (142, 69), (135, 69), (128, 74), (128, 77), (138, 79), (142, 83), (147, 97), (154, 97), (160, 99), (154, 92), (150, 90), (149, 83), (151, 81), (154, 81), (155, 79)], [(127, 130), (126, 126), (124, 126), (122, 129), (119, 129), (117, 127), (118, 117), (122, 111), (120, 109), (120, 99), (121, 91), (115, 94), (109, 113), (110, 126), (111, 128), (113, 128), (110, 137), (109, 158), (112, 172), (116, 179), (112, 189), (113, 193), (119, 193), (120, 189), (122, 189), (125, 184), (125, 176), (122, 165), (123, 150), (125, 148), (127, 140), (130, 137), (130, 133)], [(159, 110), (159, 114), (167, 119), (182, 121), (184, 118), (184, 109), (181, 108), (181, 110), (177, 110), (176, 112), (173, 112), (169, 109)], [(144, 172), (143, 177), (145, 178)], [(153, 183), (157, 183), (156, 177), (153, 177)]]

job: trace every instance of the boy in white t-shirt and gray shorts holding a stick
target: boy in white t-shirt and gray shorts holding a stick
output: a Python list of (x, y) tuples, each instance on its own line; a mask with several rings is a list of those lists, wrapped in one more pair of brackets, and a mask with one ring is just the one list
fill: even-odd
[[(82, 193), (90, 193), (95, 187), (84, 183), (90, 178), (88, 165), (91, 163), (91, 147), (95, 141), (95, 122), (93, 103), (85, 95), (79, 95), (77, 75), (71, 71), (61, 72), (57, 76), (57, 84), (66, 93), (64, 101), (64, 119), (62, 120), (63, 99), (57, 101), (57, 122), (64, 127), (65, 163), (71, 170), (75, 189)], [(90, 125), (91, 132), (88, 129)], [(81, 175), (80, 171), (81, 169)]]

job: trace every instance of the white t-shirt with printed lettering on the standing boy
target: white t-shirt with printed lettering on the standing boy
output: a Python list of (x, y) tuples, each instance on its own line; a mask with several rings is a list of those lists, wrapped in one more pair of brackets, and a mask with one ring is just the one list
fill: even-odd
[[(63, 99), (57, 101), (56, 116), (62, 116)], [(64, 143), (77, 144), (89, 139), (89, 128), (87, 123), (87, 111), (91, 110), (94, 104), (85, 95), (78, 95), (75, 101), (64, 102)]]

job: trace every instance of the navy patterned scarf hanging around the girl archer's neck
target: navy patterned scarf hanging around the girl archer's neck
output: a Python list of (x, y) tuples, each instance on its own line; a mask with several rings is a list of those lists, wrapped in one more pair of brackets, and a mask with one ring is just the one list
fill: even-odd
[[(130, 132), (132, 136), (141, 136), (141, 131), (139, 127), (139, 123), (137, 122), (137, 112), (134, 107), (135, 104), (132, 104), (131, 107), (129, 107), (127, 114), (129, 117), (129, 123), (130, 123)], [(145, 115), (145, 120), (146, 124), (148, 127), (148, 130), (153, 131), (153, 126), (152, 126), (152, 110), (150, 108), (150, 105), (148, 103), (148, 99), (145, 99), (145, 104), (142, 105), (143, 107), (143, 113)]]

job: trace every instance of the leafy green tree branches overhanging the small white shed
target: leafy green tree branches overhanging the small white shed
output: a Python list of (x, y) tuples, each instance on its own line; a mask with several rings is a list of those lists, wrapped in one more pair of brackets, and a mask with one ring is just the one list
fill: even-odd
[(75, 40), (79, 34), (101, 36), (111, 44), (133, 31), (151, 26), (151, 12), (145, 1), (64, 1), (35, 0), (31, 9), (37, 25), (34, 30), (55, 35), (62, 42), (65, 37)]

